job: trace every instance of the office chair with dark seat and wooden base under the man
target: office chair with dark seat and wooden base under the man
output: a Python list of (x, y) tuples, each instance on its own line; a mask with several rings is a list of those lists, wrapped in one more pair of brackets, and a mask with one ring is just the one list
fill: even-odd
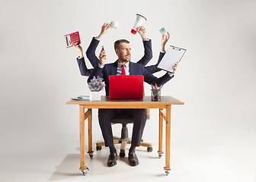
[[(150, 109), (147, 108), (147, 120), (149, 120), (149, 114), (150, 114)], [(121, 137), (113, 137), (114, 138), (114, 144), (119, 144), (121, 143), (121, 149), (120, 149), (120, 157), (123, 158), (125, 157), (125, 149), (126, 149), (126, 144), (129, 143), (131, 144), (131, 138), (128, 137), (128, 128), (127, 124), (132, 124), (133, 123), (133, 118), (130, 117), (129, 115), (120, 115), (117, 118), (114, 118), (112, 121), (112, 124), (122, 124), (122, 130), (121, 130)], [(101, 150), (102, 146), (105, 146), (105, 143), (96, 143), (96, 150)], [(143, 140), (140, 143), (140, 146), (146, 146), (148, 152), (152, 152), (152, 143), (144, 143)]]

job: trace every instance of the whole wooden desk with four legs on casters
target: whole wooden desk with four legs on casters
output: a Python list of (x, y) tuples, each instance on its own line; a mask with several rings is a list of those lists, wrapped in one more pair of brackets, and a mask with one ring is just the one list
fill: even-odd
[[(159, 140), (158, 155), (162, 155), (162, 130), (163, 119), (165, 119), (165, 173), (168, 175), (170, 168), (170, 145), (171, 145), (171, 105), (184, 105), (171, 96), (162, 96), (161, 102), (152, 102), (150, 96), (144, 96), (144, 99), (108, 99), (108, 96), (101, 96), (101, 101), (69, 101), (67, 105), (79, 105), (80, 120), (80, 170), (83, 174), (88, 172), (85, 166), (85, 120), (88, 118), (88, 154), (92, 158), (92, 138), (91, 138), (91, 108), (159, 108)], [(85, 108), (87, 111), (85, 112)], [(165, 111), (164, 111), (165, 108)]]

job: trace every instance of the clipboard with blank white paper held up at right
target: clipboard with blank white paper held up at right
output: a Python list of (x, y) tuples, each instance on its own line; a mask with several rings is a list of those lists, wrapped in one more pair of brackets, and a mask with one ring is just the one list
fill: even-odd
[(173, 72), (174, 69), (172, 69), (172, 67), (176, 64), (176, 62), (181, 61), (181, 58), (186, 51), (186, 49), (170, 45), (168, 50), (165, 52), (162, 61), (158, 64), (158, 68), (165, 71)]

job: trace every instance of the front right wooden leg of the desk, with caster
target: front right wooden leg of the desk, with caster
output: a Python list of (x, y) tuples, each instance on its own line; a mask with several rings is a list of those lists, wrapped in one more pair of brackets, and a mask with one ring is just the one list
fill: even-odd
[(170, 147), (171, 147), (171, 105), (167, 105), (166, 108), (166, 139), (165, 139), (165, 173), (168, 175), (170, 168)]

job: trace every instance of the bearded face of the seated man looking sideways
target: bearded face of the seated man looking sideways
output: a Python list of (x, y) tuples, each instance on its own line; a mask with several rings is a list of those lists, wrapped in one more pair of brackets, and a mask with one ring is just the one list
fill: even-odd
[(126, 63), (131, 58), (131, 48), (129, 43), (120, 43), (120, 49), (116, 49), (116, 53), (120, 62)]

